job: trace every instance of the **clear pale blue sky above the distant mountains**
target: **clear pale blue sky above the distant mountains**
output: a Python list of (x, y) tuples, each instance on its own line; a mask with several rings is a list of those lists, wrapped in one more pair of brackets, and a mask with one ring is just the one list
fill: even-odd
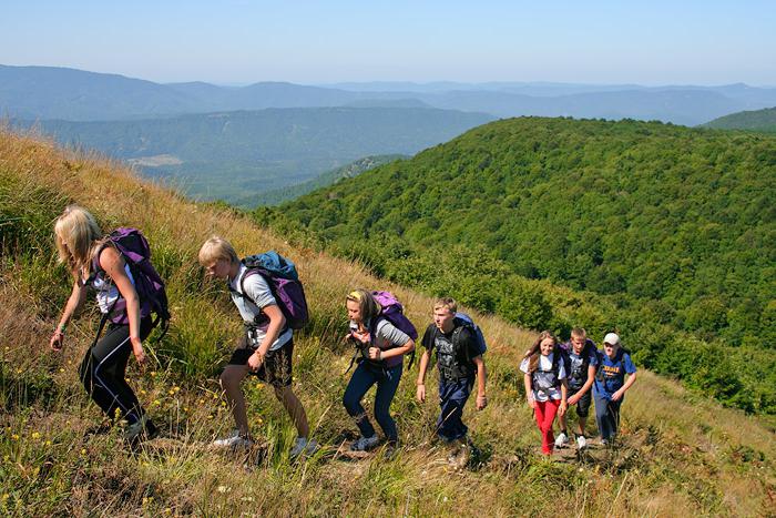
[(776, 85), (774, 0), (2, 0), (0, 64), (157, 82)]

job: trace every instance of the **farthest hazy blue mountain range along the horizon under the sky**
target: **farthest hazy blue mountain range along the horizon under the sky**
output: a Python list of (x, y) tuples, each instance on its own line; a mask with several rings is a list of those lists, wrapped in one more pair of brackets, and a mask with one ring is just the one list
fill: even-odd
[[(358, 89), (363, 84), (363, 90)], [(776, 105), (776, 88), (583, 85), (563, 83), (343, 83), (343, 88), (262, 82), (217, 87), (159, 84), (74, 69), (0, 65), (0, 113), (22, 119), (121, 120), (413, 101), (493, 116), (542, 115), (660, 120), (701, 124), (743, 110)], [(385, 104), (384, 104), (385, 105)]]

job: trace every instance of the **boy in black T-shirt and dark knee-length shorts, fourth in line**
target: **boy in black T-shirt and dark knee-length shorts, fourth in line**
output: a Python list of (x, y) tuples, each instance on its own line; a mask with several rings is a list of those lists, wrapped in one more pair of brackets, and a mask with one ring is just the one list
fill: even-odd
[[(469, 399), (477, 378), (477, 409), (488, 405), (486, 397), (486, 366), (483, 346), (478, 344), (478, 332), (467, 315), (457, 314), (458, 304), (450, 297), (433, 303), (433, 323), (426, 328), (421, 344), (417, 382), (418, 402), (426, 402), (426, 370), (431, 352), (437, 352), (439, 367), (439, 406), (437, 435), (451, 446), (450, 464), (461, 469), (469, 463), (469, 428), (463, 424), (463, 406)], [(484, 339), (482, 341), (484, 344)]]

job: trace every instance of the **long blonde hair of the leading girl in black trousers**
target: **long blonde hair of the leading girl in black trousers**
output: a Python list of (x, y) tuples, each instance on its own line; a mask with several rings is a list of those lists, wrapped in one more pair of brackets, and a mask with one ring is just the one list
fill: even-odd
[(68, 205), (54, 222), (54, 244), (59, 262), (74, 273), (89, 274), (91, 260), (102, 241), (94, 216), (79, 205)]

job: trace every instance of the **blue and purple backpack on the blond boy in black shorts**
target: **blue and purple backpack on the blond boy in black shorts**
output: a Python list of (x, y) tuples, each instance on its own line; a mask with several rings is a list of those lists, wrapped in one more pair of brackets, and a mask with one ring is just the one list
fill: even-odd
[(283, 316), (286, 317), (286, 326), (292, 329), (300, 329), (307, 324), (309, 321), (307, 298), (293, 262), (275, 251), (269, 251), (245, 257), (243, 264), (248, 271), (243, 275), (242, 293), (237, 293), (255, 304), (255, 301), (245, 293), (244, 284), (246, 277), (259, 274), (267, 282), (275, 302), (283, 312)]

